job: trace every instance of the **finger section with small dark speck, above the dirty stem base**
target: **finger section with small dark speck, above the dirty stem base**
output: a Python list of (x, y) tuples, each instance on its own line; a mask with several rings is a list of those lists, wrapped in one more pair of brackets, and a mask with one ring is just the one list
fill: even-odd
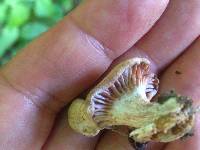
[(199, 103), (198, 101), (200, 98), (199, 49), (200, 49), (200, 37), (165, 72), (165, 74), (161, 78), (165, 79), (163, 82), (161, 82), (161, 89), (166, 91), (175, 87), (178, 93), (190, 96), (194, 100), (197, 100), (195, 101), (196, 103)]

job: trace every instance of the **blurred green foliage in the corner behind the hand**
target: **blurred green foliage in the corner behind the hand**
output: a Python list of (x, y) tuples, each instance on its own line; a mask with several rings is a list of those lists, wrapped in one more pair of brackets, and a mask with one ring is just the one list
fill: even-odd
[(0, 0), (0, 66), (80, 0)]

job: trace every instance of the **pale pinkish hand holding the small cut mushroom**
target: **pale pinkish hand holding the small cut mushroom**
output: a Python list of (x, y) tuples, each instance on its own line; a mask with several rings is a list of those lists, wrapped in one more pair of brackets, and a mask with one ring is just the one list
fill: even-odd
[[(131, 150), (116, 133), (75, 133), (62, 109), (130, 57), (152, 62), (161, 92), (175, 89), (200, 104), (199, 8), (199, 0), (83, 2), (0, 70), (0, 149)], [(197, 117), (195, 136), (149, 149), (198, 150), (199, 128)]]

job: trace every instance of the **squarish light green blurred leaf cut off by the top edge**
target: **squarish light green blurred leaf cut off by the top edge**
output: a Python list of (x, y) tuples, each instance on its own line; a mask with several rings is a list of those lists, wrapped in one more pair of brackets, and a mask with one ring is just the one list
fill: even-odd
[(52, 17), (54, 12), (52, 0), (35, 0), (34, 12), (37, 17)]

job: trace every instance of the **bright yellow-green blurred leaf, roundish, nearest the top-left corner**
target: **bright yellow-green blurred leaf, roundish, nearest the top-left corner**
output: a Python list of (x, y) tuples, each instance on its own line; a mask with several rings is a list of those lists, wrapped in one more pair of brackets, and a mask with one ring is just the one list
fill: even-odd
[(30, 17), (30, 8), (24, 4), (13, 5), (10, 9), (8, 25), (19, 27), (23, 25)]

